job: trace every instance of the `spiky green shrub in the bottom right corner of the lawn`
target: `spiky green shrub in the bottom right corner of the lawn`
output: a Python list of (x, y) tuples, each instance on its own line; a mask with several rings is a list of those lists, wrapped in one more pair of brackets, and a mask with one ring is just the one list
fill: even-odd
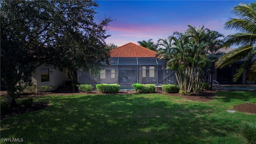
[(256, 123), (243, 121), (240, 130), (249, 144), (256, 144)]

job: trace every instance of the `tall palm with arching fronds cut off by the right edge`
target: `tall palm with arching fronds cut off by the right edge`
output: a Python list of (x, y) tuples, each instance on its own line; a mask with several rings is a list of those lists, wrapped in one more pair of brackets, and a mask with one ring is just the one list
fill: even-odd
[[(244, 59), (244, 63), (240, 66), (237, 73), (234, 75), (233, 81), (236, 82), (241, 74), (249, 66), (252, 65), (248, 71), (247, 77), (250, 81), (256, 80), (256, 4), (250, 5), (240, 3), (232, 10), (238, 18), (230, 18), (225, 23), (225, 29), (235, 29), (236, 34), (230, 34), (224, 38), (226, 46), (240, 46), (224, 56), (222, 56), (215, 64), (216, 68), (223, 68), (224, 66)], [(254, 58), (254, 60), (253, 60)]]

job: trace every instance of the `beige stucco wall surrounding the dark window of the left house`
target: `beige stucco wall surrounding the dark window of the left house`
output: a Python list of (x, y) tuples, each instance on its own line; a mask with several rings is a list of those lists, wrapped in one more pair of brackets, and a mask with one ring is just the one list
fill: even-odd
[[(41, 68), (49, 68), (49, 81), (41, 82)], [(65, 80), (67, 77), (67, 72), (60, 72), (59, 70), (53, 69), (50, 66), (41, 65), (36, 68), (35, 72), (32, 72), (32, 82), (36, 85), (36, 92), (40, 92), (41, 86), (55, 86), (55, 88), (60, 88), (65, 86)]]

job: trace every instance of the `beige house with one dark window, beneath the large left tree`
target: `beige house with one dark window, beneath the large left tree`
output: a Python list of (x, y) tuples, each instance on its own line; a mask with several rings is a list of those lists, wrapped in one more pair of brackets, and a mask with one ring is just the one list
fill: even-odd
[(35, 90), (30, 89), (29, 91), (33, 92), (41, 92), (41, 86), (54, 86), (54, 88), (60, 88), (65, 86), (65, 81), (67, 78), (66, 72), (60, 72), (51, 66), (41, 66), (37, 67), (34, 72), (30, 74), (26, 74), (28, 78), (32, 81), (34, 86), (36, 86)]

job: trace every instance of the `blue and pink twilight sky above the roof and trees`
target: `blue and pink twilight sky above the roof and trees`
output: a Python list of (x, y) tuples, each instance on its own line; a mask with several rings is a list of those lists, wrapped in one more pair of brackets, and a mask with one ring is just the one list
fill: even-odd
[(106, 43), (122, 46), (129, 42), (168, 38), (173, 32), (184, 32), (191, 26), (202, 26), (224, 34), (236, 33), (225, 30), (229, 18), (235, 18), (232, 8), (240, 2), (252, 0), (99, 0), (95, 19), (114, 19), (108, 26)]

